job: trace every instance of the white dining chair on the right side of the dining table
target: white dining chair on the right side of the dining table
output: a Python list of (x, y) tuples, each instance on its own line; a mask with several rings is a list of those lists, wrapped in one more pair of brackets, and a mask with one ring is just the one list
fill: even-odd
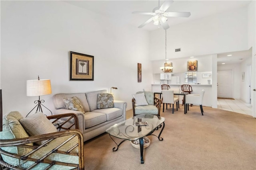
[(189, 110), (189, 108), (188, 108), (189, 104), (196, 104), (196, 105), (200, 106), (201, 113), (202, 113), (202, 115), (204, 115), (203, 114), (204, 110), (203, 110), (203, 106), (202, 106), (203, 97), (204, 97), (204, 90), (202, 90), (200, 92), (200, 94), (187, 94), (186, 95), (187, 110)]

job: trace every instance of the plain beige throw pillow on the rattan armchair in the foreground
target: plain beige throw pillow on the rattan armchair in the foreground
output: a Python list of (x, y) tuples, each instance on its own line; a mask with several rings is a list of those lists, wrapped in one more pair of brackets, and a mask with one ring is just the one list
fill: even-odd
[[(57, 128), (50, 122), (49, 119), (47, 119), (47, 117), (42, 112), (37, 112), (34, 115), (24, 117), (19, 121), (30, 136), (57, 132)], [(36, 144), (41, 145), (46, 141), (40, 141)]]

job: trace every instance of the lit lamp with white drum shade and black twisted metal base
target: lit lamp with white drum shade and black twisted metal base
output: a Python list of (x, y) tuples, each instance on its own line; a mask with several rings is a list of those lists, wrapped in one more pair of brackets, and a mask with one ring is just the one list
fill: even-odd
[[(47, 95), (47, 94), (52, 94), (51, 81), (49, 79), (40, 80), (38, 76), (38, 80), (27, 80), (27, 96), (38, 96), (38, 100), (34, 101), (34, 103), (37, 104), (34, 107), (34, 108), (37, 107), (36, 112), (42, 111), (42, 106), (44, 106), (42, 104), (44, 103), (44, 100), (40, 100), (40, 96)], [(34, 110), (34, 108), (32, 110)], [(47, 107), (45, 108), (48, 109)], [(50, 109), (48, 110), (50, 111)], [(52, 113), (52, 111), (50, 112)], [(26, 117), (29, 115), (29, 113), (26, 115)]]

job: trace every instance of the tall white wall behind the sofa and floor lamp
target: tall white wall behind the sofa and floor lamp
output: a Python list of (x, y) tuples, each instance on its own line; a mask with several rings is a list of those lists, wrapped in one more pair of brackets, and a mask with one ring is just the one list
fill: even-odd
[[(26, 115), (35, 106), (38, 97), (26, 96), (26, 80), (38, 75), (51, 80), (52, 94), (41, 99), (52, 111), (54, 94), (112, 86), (118, 87), (114, 99), (131, 109), (132, 94), (151, 87), (149, 33), (66, 2), (1, 1), (1, 42), (4, 114)], [(69, 81), (69, 51), (94, 56), (94, 81)], [(141, 83), (137, 63), (142, 63)]]

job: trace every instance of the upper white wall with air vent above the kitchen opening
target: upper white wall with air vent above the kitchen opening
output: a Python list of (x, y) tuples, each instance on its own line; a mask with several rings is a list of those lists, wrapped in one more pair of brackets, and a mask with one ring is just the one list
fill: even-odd
[[(167, 59), (248, 50), (247, 17), (244, 7), (171, 26), (166, 33)], [(165, 59), (162, 29), (150, 32), (150, 59)]]

